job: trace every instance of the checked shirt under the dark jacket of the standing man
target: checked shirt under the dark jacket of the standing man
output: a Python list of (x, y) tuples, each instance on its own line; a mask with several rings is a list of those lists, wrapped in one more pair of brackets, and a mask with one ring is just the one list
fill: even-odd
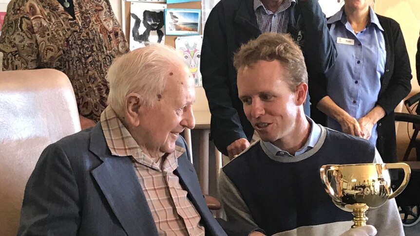
[(275, 13), (268, 10), (261, 0), (254, 0), (254, 12), (257, 17), (258, 27), (262, 34), (267, 32), (287, 33), (289, 11), (286, 11), (295, 0), (284, 0)]

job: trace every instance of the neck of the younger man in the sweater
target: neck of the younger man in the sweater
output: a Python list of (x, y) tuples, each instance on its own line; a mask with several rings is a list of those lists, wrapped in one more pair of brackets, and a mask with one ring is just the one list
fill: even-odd
[(298, 116), (295, 124), (292, 132), (273, 143), (291, 155), (295, 155), (305, 145), (311, 132), (311, 126), (305, 115)]

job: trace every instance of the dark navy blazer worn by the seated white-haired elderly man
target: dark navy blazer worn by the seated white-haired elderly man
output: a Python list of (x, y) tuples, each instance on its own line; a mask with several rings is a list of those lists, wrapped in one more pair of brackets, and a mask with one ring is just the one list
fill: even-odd
[[(176, 145), (185, 147), (180, 137)], [(186, 151), (175, 174), (206, 235), (226, 236), (206, 205)], [(113, 156), (101, 124), (49, 145), (26, 185), (18, 235), (158, 236), (130, 157)]]

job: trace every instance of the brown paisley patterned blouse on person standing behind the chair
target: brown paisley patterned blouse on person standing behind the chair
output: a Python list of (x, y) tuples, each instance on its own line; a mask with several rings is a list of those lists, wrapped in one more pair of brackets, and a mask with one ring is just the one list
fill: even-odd
[(98, 121), (106, 73), (129, 51), (109, 0), (74, 0), (76, 18), (57, 0), (12, 0), (0, 36), (3, 70), (53, 68), (70, 78), (79, 113)]

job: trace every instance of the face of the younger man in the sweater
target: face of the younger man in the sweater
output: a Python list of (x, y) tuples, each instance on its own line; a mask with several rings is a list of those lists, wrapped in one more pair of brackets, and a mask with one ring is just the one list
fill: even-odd
[(298, 91), (285, 82), (286, 69), (279, 61), (260, 60), (238, 70), (239, 98), (245, 114), (260, 138), (274, 142), (290, 136), (301, 106)]

